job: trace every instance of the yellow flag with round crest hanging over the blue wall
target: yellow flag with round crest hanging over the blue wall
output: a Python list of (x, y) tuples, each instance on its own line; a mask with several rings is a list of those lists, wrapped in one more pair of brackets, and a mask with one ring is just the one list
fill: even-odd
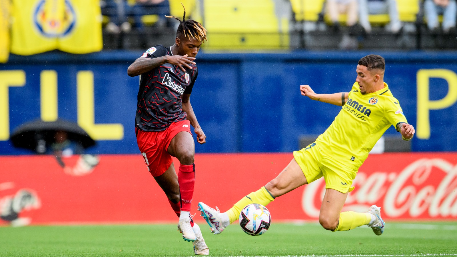
[(103, 48), (99, 0), (12, 1), (11, 53), (85, 54)]

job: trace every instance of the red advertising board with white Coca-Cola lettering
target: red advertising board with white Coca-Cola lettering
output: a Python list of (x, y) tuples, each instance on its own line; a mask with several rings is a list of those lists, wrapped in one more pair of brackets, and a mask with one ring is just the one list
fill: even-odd
[[(227, 210), (291, 160), (291, 153), (197, 154), (191, 213), (200, 201)], [(1, 156), (0, 225), (177, 221), (141, 155), (101, 155), (94, 168), (80, 156), (64, 162), (66, 168), (51, 155)], [(457, 219), (457, 153), (370, 155), (353, 185), (344, 210), (377, 204), (385, 220)], [(268, 205), (273, 220), (317, 220), (324, 188), (319, 179), (276, 198)]]

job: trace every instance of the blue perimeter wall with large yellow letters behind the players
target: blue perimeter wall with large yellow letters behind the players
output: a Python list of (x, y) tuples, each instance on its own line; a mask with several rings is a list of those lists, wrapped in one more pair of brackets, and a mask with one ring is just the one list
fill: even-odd
[[(138, 77), (127, 75), (140, 51), (11, 56), (0, 64), (0, 155), (30, 154), (10, 135), (41, 118), (77, 122), (97, 145), (88, 153), (138, 153), (134, 133)], [(207, 135), (196, 152), (291, 152), (301, 135), (321, 134), (341, 107), (301, 96), (349, 91), (357, 61), (386, 59), (384, 81), (416, 128), (413, 151), (457, 150), (455, 52), (199, 53), (191, 104)], [(393, 127), (387, 134), (398, 134)]]

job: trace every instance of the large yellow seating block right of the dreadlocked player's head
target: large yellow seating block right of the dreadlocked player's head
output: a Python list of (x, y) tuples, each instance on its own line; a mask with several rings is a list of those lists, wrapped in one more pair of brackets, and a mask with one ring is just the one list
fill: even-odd
[(204, 1), (207, 49), (288, 48), (272, 0)]

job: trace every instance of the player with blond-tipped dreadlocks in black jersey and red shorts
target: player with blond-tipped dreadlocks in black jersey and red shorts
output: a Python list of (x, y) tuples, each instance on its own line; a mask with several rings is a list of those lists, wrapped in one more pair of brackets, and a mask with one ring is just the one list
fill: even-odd
[[(195, 56), (207, 40), (207, 31), (199, 22), (186, 20), (186, 9), (182, 21), (166, 17), (180, 21), (175, 44), (149, 48), (128, 67), (129, 76), (141, 75), (135, 133), (149, 172), (179, 217), (183, 239), (193, 242), (195, 254), (208, 255), (202, 232), (190, 216), (195, 184), (195, 144), (190, 125), (198, 143), (204, 144), (206, 136), (189, 101), (198, 74)], [(177, 175), (171, 156), (180, 162)]]

